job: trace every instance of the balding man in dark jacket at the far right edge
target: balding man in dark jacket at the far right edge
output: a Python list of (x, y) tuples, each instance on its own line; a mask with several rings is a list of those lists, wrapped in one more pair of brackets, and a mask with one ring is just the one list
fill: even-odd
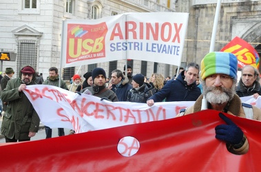
[(236, 87), (236, 94), (240, 97), (253, 95), (257, 99), (261, 95), (259, 79), (258, 69), (251, 65), (244, 66), (240, 81)]

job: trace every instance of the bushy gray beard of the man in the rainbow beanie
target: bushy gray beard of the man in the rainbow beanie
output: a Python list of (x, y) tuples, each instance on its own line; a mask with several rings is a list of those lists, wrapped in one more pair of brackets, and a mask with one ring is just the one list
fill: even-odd
[[(202, 86), (206, 100), (214, 105), (228, 103), (236, 94), (235, 89), (227, 89), (225, 87), (206, 87), (205, 84)], [(232, 87), (234, 87), (234, 85)]]

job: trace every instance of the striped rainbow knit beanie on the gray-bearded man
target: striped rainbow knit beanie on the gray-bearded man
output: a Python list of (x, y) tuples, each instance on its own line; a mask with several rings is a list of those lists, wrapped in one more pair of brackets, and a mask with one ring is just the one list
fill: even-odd
[(201, 61), (202, 80), (211, 74), (227, 74), (237, 79), (237, 72), (238, 59), (230, 52), (209, 52)]

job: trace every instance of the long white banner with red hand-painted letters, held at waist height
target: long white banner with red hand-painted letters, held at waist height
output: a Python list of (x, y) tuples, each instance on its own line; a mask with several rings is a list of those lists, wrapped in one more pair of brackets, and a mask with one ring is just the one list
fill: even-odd
[[(166, 120), (174, 118), (180, 109), (194, 105), (192, 101), (155, 103), (152, 107), (146, 103), (112, 103), (50, 85), (30, 85), (24, 93), (44, 125), (74, 129), (76, 133)], [(260, 97), (255, 100), (253, 96), (248, 96), (242, 101), (261, 107)]]

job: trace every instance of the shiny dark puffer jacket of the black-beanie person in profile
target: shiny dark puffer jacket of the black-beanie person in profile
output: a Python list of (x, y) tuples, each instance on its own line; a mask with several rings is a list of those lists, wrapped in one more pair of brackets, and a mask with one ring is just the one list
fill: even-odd
[(132, 88), (127, 95), (128, 102), (146, 103), (147, 99), (152, 96), (152, 85), (144, 83), (141, 87)]

